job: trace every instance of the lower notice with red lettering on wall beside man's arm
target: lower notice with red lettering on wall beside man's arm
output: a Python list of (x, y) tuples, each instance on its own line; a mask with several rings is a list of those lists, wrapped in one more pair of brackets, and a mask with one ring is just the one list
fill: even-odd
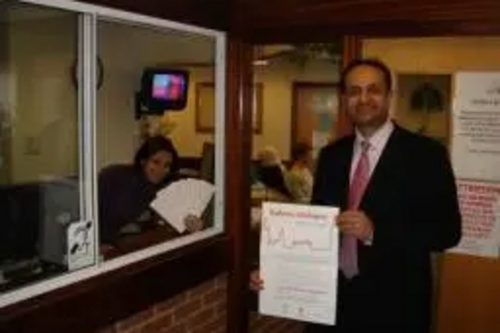
[(450, 252), (498, 257), (500, 247), (500, 183), (459, 180), (462, 239)]

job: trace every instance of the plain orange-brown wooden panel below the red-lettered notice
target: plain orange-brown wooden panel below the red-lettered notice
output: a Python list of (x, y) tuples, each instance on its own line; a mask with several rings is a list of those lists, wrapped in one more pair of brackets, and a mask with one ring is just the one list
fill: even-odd
[(448, 254), (438, 298), (438, 333), (500, 331), (498, 259)]

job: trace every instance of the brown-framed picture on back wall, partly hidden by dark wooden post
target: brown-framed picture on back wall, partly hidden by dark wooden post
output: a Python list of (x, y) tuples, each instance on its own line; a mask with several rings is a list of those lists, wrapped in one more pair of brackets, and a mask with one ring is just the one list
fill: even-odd
[[(262, 133), (263, 85), (256, 83), (253, 89), (252, 129)], [(213, 133), (215, 128), (215, 85), (211, 82), (196, 84), (196, 132)]]

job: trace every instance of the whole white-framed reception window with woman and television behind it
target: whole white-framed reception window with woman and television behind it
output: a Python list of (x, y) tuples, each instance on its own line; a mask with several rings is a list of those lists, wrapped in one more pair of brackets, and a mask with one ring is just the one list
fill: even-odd
[(224, 52), (195, 26), (0, 3), (0, 308), (223, 232)]

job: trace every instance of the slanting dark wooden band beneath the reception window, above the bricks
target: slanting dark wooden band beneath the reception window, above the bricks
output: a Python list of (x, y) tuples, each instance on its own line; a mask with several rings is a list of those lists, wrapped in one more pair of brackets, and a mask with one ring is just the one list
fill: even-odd
[(0, 310), (0, 332), (95, 331), (227, 271), (227, 248), (217, 236), (17, 303)]

